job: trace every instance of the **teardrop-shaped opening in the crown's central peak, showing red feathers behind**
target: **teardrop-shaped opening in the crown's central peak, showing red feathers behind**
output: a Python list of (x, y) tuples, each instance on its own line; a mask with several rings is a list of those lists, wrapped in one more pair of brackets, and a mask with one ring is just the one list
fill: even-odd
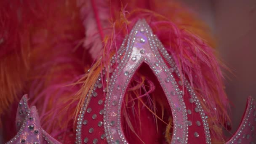
[(163, 88), (145, 63), (125, 92), (121, 122), (129, 144), (168, 144), (173, 117)]

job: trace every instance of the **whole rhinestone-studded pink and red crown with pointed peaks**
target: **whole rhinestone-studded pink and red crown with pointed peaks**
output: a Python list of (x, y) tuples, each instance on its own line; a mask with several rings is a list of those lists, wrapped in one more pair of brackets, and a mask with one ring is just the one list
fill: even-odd
[[(122, 126), (121, 109), (128, 84), (142, 64), (147, 64), (157, 77), (171, 108), (171, 144), (211, 144), (208, 117), (201, 101), (145, 20), (135, 24), (117, 54), (112, 57), (108, 69), (113, 71), (108, 81), (102, 80), (107, 78), (100, 74), (86, 96), (77, 119), (75, 143), (129, 143)], [(18, 133), (7, 144), (60, 144), (41, 128), (36, 108), (27, 105), (27, 96), (21, 99), (16, 117)], [(256, 140), (255, 127), (256, 102), (249, 97), (243, 120), (226, 144), (253, 144)]]

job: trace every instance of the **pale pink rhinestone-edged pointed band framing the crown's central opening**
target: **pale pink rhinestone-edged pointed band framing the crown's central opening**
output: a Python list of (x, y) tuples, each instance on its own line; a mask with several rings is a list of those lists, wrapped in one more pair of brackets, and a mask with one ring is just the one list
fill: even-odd
[[(141, 33), (144, 33), (144, 31), (146, 32), (145, 35), (147, 36), (148, 44), (150, 47), (150, 48), (147, 48), (147, 51), (149, 52), (151, 51), (150, 53), (145, 53), (146, 49), (144, 50), (143, 48), (141, 48), (139, 50), (139, 48), (133, 47), (136, 41), (135, 37), (138, 34), (139, 30)], [(121, 54), (118, 53), (118, 56), (119, 56), (119, 57), (117, 56), (118, 62), (121, 62), (124, 64), (118, 64), (118, 67), (117, 67), (118, 72), (115, 69), (115, 71), (111, 76), (111, 79), (109, 81), (108, 94), (105, 101), (107, 107), (104, 108), (105, 110), (104, 130), (107, 135), (108, 143), (118, 144), (120, 143), (120, 141), (122, 141), (124, 144), (127, 144), (127, 141), (125, 140), (125, 137), (122, 131), (121, 120), (120, 120), (123, 95), (125, 93), (126, 87), (128, 86), (128, 83), (131, 80), (134, 72), (141, 65), (142, 62), (146, 62), (149, 65), (149, 67), (152, 69), (152, 71), (155, 73), (155, 75), (157, 76), (158, 80), (160, 81), (160, 85), (162, 86), (165, 92), (165, 95), (168, 98), (170, 107), (172, 109), (174, 127), (173, 127), (173, 139), (171, 143), (175, 143), (176, 141), (181, 143), (187, 143), (187, 137), (188, 137), (187, 112), (186, 112), (186, 106), (183, 101), (183, 92), (180, 91), (173, 75), (171, 75), (171, 69), (168, 69), (160, 53), (158, 51), (155, 51), (155, 49), (157, 48), (157, 45), (156, 45), (156, 41), (152, 37), (153, 37), (152, 30), (149, 28), (146, 21), (144, 20), (138, 21), (136, 25), (133, 27), (133, 29), (131, 30), (130, 37), (128, 39), (128, 42), (132, 40), (131, 41), (132, 45), (127, 45), (125, 50), (123, 49), (120, 50), (121, 52), (125, 52), (124, 56), (123, 56), (123, 53)], [(145, 41), (146, 41), (145, 39), (141, 38), (140, 43), (145, 43)], [(138, 43), (136, 44), (139, 45)], [(124, 43), (122, 45), (124, 46)], [(141, 47), (143, 46), (141, 45)], [(124, 58), (120, 59), (120, 56), (123, 56)], [(133, 57), (130, 60), (131, 56)], [(112, 59), (115, 59), (115, 57)], [(135, 64), (131, 64), (130, 63), (131, 61), (133, 62), (137, 61), (137, 62)], [(155, 61), (155, 62), (152, 63), (152, 61)], [(125, 65), (127, 62), (129, 62), (128, 66)], [(123, 67), (120, 67), (120, 66), (123, 66)], [(124, 69), (125, 70), (129, 69), (129, 71), (124, 71), (124, 73), (121, 73)], [(120, 77), (117, 82), (118, 75), (122, 75), (122, 76), (124, 75), (124, 76)], [(117, 83), (120, 85), (117, 85)], [(165, 86), (165, 85), (168, 85), (168, 86)], [(171, 88), (174, 91), (168, 90)], [(114, 108), (115, 106), (117, 106), (117, 109)], [(116, 137), (117, 134), (119, 138)]]

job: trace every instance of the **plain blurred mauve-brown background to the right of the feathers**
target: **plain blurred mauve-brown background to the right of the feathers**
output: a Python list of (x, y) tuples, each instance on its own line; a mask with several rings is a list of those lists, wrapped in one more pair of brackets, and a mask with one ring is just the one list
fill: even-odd
[(256, 0), (183, 0), (212, 30), (232, 104), (232, 133), (240, 123), (248, 96), (256, 99)]

